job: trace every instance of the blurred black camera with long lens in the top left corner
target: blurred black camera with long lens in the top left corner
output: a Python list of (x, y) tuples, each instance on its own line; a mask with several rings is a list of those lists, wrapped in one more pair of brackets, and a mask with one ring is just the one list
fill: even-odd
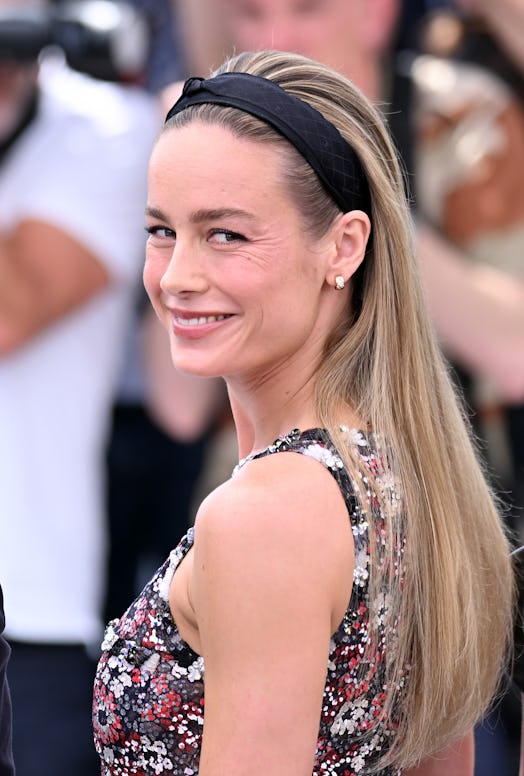
[(120, 0), (0, 8), (0, 64), (36, 62), (45, 49), (58, 47), (75, 70), (137, 82), (145, 72), (149, 46), (145, 18)]

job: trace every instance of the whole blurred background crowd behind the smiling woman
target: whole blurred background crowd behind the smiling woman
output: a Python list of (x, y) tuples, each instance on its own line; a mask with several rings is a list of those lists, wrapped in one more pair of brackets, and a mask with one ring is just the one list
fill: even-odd
[[(147, 160), (189, 74), (297, 51), (381, 107), (434, 325), (524, 543), (524, 1), (0, 0), (0, 583), (19, 776), (94, 776), (119, 616), (226, 479), (221, 382), (179, 374), (141, 283)], [(476, 732), (516, 776), (520, 698)]]

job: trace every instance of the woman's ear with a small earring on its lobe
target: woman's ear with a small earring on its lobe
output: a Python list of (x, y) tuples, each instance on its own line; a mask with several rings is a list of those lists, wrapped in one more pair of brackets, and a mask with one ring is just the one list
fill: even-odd
[(347, 283), (364, 259), (371, 222), (362, 210), (351, 210), (339, 216), (333, 228), (334, 250), (326, 280), (330, 286), (340, 288), (340, 278)]

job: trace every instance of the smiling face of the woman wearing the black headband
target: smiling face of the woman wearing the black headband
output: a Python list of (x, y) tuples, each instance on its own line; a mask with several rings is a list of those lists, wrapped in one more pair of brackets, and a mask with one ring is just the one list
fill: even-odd
[(304, 229), (280, 159), (199, 122), (153, 151), (144, 283), (183, 371), (256, 382), (310, 369), (341, 315), (332, 242)]

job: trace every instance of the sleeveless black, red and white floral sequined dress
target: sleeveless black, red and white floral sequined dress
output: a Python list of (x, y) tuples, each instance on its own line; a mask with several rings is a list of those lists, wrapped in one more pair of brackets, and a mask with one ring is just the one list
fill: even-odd
[[(357, 455), (383, 493), (400, 504), (394, 485), (384, 474), (373, 438), (341, 428), (351, 436)], [(348, 508), (355, 542), (353, 590), (344, 619), (331, 639), (313, 776), (359, 776), (387, 753), (395, 735), (394, 726), (388, 726), (384, 715), (381, 718), (385, 699), (381, 636), (385, 636), (385, 627), (371, 652), (366, 649), (368, 514), (324, 429), (295, 429), (241, 461), (235, 472), (248, 460), (286, 451), (302, 453), (323, 464), (337, 480)], [(380, 532), (383, 523), (373, 497), (371, 509), (374, 530)], [(198, 774), (204, 722), (204, 660), (180, 637), (168, 602), (173, 575), (192, 545), (191, 528), (125, 614), (107, 627), (93, 701), (102, 776)], [(380, 627), (386, 596), (381, 595), (377, 604)], [(378, 773), (400, 776), (401, 771), (385, 768)]]

